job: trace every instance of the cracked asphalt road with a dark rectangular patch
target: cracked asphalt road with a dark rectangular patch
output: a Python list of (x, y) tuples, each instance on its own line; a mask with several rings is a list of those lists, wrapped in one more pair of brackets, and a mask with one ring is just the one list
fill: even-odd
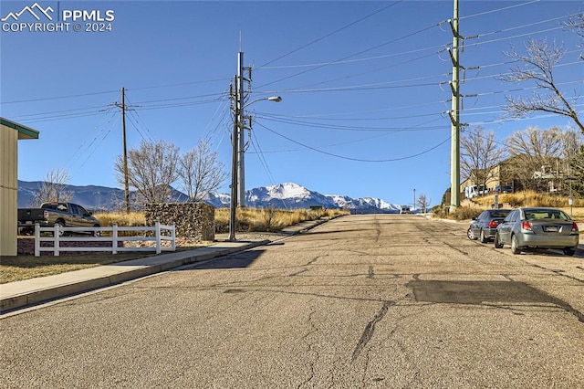
[(584, 387), (584, 253), (420, 216), (270, 246), (0, 321), (0, 386)]

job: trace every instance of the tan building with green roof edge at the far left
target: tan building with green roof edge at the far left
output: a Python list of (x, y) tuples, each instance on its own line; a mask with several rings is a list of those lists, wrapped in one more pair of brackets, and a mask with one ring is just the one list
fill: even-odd
[(0, 118), (0, 256), (16, 256), (20, 139), (38, 139), (38, 131)]

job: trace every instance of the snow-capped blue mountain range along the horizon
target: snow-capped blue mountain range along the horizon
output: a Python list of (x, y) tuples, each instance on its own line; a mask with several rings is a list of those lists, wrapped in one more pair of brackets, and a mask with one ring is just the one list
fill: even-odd
[[(42, 183), (39, 181), (18, 181), (18, 207), (28, 207), (33, 203), (33, 198)], [(123, 204), (124, 191), (107, 186), (66, 185), (65, 191), (73, 196), (71, 202), (93, 210), (111, 211), (120, 209)], [(172, 190), (172, 199), (183, 202), (187, 195), (177, 190)], [(214, 194), (204, 199), (205, 203), (216, 208), (228, 207), (230, 195)], [(374, 197), (351, 198), (346, 195), (321, 195), (318, 192), (308, 190), (298, 184), (276, 184), (247, 190), (245, 192), (245, 205), (252, 208), (280, 208), (280, 209), (306, 209), (311, 206), (324, 208), (344, 208), (356, 214), (394, 214), (399, 213), (401, 206), (393, 205)]]

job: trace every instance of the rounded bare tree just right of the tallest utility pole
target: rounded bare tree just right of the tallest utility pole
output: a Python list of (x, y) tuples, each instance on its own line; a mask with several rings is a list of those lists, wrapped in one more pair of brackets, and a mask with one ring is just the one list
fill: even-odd
[(486, 132), (483, 127), (467, 131), (461, 137), (461, 171), (465, 179), (486, 187), (494, 177), (496, 164), (501, 161), (503, 149), (495, 140), (494, 132)]

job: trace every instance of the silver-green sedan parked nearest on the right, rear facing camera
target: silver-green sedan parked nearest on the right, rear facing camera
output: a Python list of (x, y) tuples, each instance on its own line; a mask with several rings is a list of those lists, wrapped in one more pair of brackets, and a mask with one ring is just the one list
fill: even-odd
[(495, 233), (495, 247), (510, 245), (513, 254), (527, 248), (558, 248), (573, 256), (578, 241), (578, 225), (556, 208), (517, 208), (496, 227)]

